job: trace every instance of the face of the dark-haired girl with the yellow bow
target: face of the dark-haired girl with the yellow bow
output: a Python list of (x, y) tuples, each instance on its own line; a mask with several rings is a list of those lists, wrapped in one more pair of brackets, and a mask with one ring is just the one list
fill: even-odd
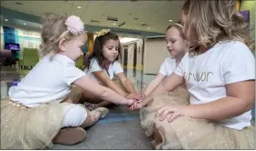
[(114, 62), (118, 56), (119, 40), (108, 40), (102, 47), (102, 55), (109, 62)]

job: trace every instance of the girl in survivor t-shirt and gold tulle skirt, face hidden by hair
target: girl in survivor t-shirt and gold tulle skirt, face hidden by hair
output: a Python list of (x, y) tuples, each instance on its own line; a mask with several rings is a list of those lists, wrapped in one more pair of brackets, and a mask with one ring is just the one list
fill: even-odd
[[(187, 0), (181, 20), (194, 47), (175, 73), (165, 78), (137, 108), (165, 99), (151, 134), (155, 148), (255, 149), (251, 107), (255, 100), (255, 58), (249, 25), (233, 0)], [(186, 83), (190, 103), (159, 96)], [(154, 97), (156, 96), (156, 97)]]

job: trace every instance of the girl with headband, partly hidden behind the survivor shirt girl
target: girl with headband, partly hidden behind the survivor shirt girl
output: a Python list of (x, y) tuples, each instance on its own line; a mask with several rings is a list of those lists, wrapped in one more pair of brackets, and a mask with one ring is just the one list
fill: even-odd
[(167, 50), (171, 56), (165, 58), (155, 79), (144, 88), (142, 92), (143, 96), (150, 95), (166, 76), (170, 76), (175, 71), (176, 65), (180, 63), (181, 58), (188, 51), (187, 40), (182, 33), (182, 25), (180, 23), (175, 23), (167, 27), (165, 40)]

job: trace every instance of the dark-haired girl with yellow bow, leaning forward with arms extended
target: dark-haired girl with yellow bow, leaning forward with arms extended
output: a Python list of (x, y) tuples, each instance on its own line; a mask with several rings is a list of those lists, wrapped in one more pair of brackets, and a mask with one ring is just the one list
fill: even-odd
[[(93, 51), (86, 59), (84, 72), (96, 83), (111, 88), (119, 95), (139, 100), (140, 96), (130, 79), (124, 75), (123, 67), (119, 63), (120, 51), (118, 36), (109, 29), (102, 29), (95, 39)], [(118, 77), (121, 85), (113, 81), (113, 76)], [(86, 101), (85, 105), (90, 110), (111, 104), (110, 101), (102, 100), (89, 92), (83, 92), (81, 103), (82, 101)]]

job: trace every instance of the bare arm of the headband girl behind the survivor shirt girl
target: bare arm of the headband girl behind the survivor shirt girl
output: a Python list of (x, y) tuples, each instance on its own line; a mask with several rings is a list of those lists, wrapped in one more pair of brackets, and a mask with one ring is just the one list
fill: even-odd
[(155, 87), (158, 86), (164, 79), (165, 75), (158, 73), (155, 79), (144, 88), (144, 96), (150, 95), (155, 90)]

